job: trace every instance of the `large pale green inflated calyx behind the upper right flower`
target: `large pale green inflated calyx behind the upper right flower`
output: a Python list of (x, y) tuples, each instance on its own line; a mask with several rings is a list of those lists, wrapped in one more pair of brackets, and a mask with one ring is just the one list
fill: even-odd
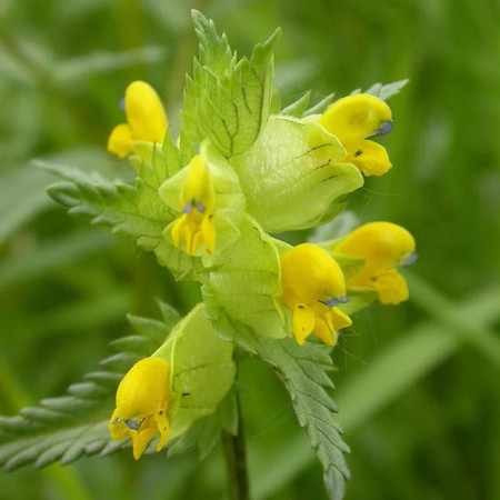
[(269, 232), (317, 226), (332, 203), (363, 183), (359, 170), (340, 160), (334, 136), (312, 121), (271, 117), (259, 140), (231, 159), (247, 208)]

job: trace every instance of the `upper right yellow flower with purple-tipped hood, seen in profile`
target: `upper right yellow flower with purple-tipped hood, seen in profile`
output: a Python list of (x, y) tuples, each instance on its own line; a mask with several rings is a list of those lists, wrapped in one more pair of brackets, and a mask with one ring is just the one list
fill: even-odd
[(333, 102), (319, 123), (346, 149), (346, 157), (337, 161), (354, 164), (364, 176), (381, 176), (392, 167), (389, 156), (386, 148), (367, 139), (389, 133), (391, 117), (384, 101), (358, 93)]

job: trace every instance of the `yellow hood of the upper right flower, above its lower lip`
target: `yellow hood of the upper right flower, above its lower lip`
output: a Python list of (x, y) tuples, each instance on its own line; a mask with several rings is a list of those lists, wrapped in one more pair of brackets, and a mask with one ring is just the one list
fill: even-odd
[(333, 102), (319, 123), (336, 136), (350, 154), (359, 149), (364, 139), (380, 133), (390, 123), (391, 116), (384, 101), (358, 93)]

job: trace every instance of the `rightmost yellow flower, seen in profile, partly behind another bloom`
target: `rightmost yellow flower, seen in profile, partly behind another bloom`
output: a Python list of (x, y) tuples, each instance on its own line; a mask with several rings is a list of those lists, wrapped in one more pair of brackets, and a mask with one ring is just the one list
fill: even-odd
[(407, 282), (396, 268), (413, 263), (417, 253), (413, 237), (401, 226), (390, 222), (361, 226), (343, 238), (333, 252), (364, 259), (360, 273), (347, 283), (349, 287), (372, 288), (384, 304), (408, 300)]

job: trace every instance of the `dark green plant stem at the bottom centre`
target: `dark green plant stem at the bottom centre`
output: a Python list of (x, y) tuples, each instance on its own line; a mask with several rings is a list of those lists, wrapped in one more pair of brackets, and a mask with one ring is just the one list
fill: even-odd
[(222, 440), (228, 464), (228, 487), (231, 500), (249, 500), (247, 453), (244, 447), (243, 422), (240, 398), (236, 394), (238, 409), (238, 432), (236, 436), (224, 431)]

